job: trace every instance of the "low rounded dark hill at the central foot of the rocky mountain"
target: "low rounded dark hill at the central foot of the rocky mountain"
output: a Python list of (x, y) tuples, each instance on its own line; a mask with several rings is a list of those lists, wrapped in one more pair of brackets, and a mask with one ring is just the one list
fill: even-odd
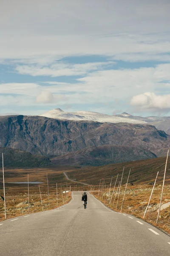
[(148, 150), (142, 150), (140, 148), (103, 145), (89, 147), (59, 157), (54, 157), (51, 159), (51, 162), (56, 165), (68, 166), (101, 166), (109, 163), (129, 162), (148, 158), (156, 158), (156, 155)]

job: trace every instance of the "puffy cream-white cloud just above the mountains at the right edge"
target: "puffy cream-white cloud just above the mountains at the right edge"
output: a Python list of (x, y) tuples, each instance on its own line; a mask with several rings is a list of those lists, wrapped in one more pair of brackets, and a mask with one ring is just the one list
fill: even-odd
[(170, 111), (170, 94), (156, 95), (150, 92), (142, 93), (133, 96), (130, 104), (148, 111)]

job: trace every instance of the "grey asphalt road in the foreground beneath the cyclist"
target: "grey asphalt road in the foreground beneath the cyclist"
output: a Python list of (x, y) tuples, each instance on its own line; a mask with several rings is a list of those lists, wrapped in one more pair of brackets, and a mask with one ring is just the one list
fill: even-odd
[[(137, 222), (139, 221), (139, 222)], [(170, 236), (73, 192), (64, 207), (0, 222), (0, 256), (170, 256)]]

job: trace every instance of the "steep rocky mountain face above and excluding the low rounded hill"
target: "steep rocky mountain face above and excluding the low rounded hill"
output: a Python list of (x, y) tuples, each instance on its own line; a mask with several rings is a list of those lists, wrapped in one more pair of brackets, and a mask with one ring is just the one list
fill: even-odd
[[(61, 156), (85, 148), (112, 145), (110, 156), (115, 146), (125, 146), (134, 148), (132, 155), (143, 159), (147, 151), (157, 157), (164, 156), (170, 145), (170, 136), (164, 131), (143, 124), (65, 121), (43, 116), (1, 116), (0, 131), (0, 147), (44, 156)], [(137, 153), (140, 151), (143, 153)], [(115, 152), (115, 159), (124, 157), (124, 149), (121, 149), (122, 153), (118, 150)], [(151, 157), (148, 152), (147, 155)]]

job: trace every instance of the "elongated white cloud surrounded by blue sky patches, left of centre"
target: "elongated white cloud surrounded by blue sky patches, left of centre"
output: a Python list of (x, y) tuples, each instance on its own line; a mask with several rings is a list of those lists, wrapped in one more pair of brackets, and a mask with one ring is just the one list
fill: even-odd
[(92, 62), (85, 64), (69, 64), (59, 61), (50, 67), (40, 67), (36, 65), (18, 65), (15, 70), (22, 75), (31, 76), (80, 76), (90, 71), (101, 70), (104, 67), (114, 64), (113, 61)]

